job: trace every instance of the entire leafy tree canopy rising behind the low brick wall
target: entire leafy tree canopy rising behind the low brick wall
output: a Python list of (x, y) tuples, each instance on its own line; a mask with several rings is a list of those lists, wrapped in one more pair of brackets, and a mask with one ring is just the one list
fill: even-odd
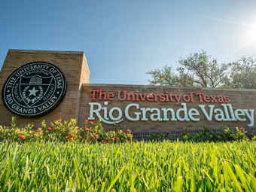
[(178, 60), (176, 72), (172, 66), (146, 72), (153, 80), (151, 85), (173, 87), (226, 87), (254, 89), (256, 87), (256, 62), (251, 57), (242, 56), (236, 62), (221, 63), (207, 55), (205, 50), (190, 53)]

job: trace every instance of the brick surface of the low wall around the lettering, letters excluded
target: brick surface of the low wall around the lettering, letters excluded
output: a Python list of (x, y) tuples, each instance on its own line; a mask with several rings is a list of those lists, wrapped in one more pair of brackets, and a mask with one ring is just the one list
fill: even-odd
[[(114, 100), (104, 100), (102, 96), (102, 100), (99, 99), (99, 93), (96, 93), (95, 100), (93, 98), (93, 93), (90, 93), (90, 90), (102, 90), (104, 93), (114, 93)], [(153, 94), (165, 94), (166, 91), (168, 93), (172, 93), (172, 95), (177, 94), (181, 95), (181, 101), (178, 105), (175, 105), (176, 102), (154, 102), (148, 101), (145, 99), (144, 101), (120, 101), (117, 98), (117, 91), (120, 90), (121, 93), (123, 90), (127, 91), (127, 93), (153, 93)], [(209, 96), (229, 96), (230, 102), (200, 102), (199, 96), (194, 96), (194, 102), (184, 102), (182, 97), (184, 95), (190, 95), (191, 92), (194, 93), (204, 93), (204, 95)], [(123, 111), (123, 121), (117, 123), (117, 126), (123, 126), (124, 130), (130, 129), (132, 132), (160, 132), (166, 130), (184, 130), (184, 127), (188, 127), (188, 130), (199, 130), (200, 127), (207, 126), (209, 129), (219, 129), (220, 125), (227, 126), (230, 128), (238, 127), (247, 127), (250, 121), (246, 118), (245, 121), (216, 121), (214, 119), (214, 115), (212, 115), (212, 120), (206, 120), (205, 115), (203, 114), (202, 110), (198, 105), (205, 105), (206, 112), (209, 114), (209, 107), (208, 105), (215, 105), (215, 108), (220, 108), (223, 111), (223, 106), (221, 104), (231, 104), (233, 110), (239, 109), (254, 109), (256, 106), (255, 101), (256, 91), (255, 90), (236, 90), (236, 89), (219, 89), (219, 88), (179, 88), (179, 87), (160, 87), (160, 86), (148, 86), (148, 85), (115, 85), (115, 84), (83, 84), (82, 93), (81, 93), (81, 110), (79, 114), (79, 126), (83, 126), (84, 120), (90, 116), (90, 105), (89, 102), (99, 102), (102, 107), (107, 107), (107, 111), (109, 113), (111, 108), (118, 107)], [(121, 95), (123, 98), (123, 95)], [(127, 99), (127, 98), (126, 98)], [(132, 98), (131, 98), (132, 99)], [(211, 99), (206, 99), (209, 101)], [(108, 101), (108, 105), (104, 105), (104, 102)], [(151, 114), (154, 112), (147, 111), (146, 116), (148, 117), (147, 121), (139, 120), (139, 121), (131, 121), (126, 119), (124, 115), (124, 111), (127, 105), (131, 103), (139, 104), (139, 108), (173, 108), (174, 111), (177, 111), (178, 108), (182, 108), (183, 106), (181, 103), (186, 103), (187, 111), (190, 108), (196, 108), (199, 111), (200, 115), (195, 116), (199, 117), (199, 121), (179, 121), (179, 120), (163, 120), (163, 121), (152, 121), (150, 120)], [(95, 109), (98, 108), (95, 106)], [(140, 109), (136, 109), (136, 107), (130, 108), (130, 116), (136, 117), (135, 112), (141, 112)], [(163, 111), (161, 111), (161, 117), (163, 118)], [(104, 117), (103, 110), (100, 111), (102, 117)], [(183, 113), (181, 113), (181, 117)], [(230, 114), (229, 114), (230, 115)], [(114, 111), (114, 117), (118, 116), (118, 112)], [(96, 115), (94, 114), (94, 117)], [(171, 116), (168, 116), (169, 119)], [(140, 115), (142, 118), (142, 115)], [(97, 118), (96, 118), (97, 119)], [(255, 116), (254, 116), (255, 122)], [(113, 125), (104, 124), (105, 129), (113, 130)]]

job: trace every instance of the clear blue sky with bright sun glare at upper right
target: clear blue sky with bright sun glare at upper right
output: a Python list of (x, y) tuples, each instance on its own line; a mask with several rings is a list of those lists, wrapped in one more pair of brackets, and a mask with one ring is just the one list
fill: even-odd
[(148, 84), (145, 72), (206, 50), (256, 58), (256, 1), (1, 0), (0, 68), (8, 49), (84, 51), (92, 84)]

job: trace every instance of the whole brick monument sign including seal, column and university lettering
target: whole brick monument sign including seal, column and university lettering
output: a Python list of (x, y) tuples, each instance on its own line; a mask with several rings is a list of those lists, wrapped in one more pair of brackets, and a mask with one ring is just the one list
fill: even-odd
[[(89, 84), (84, 52), (9, 50), (0, 72), (0, 125), (40, 127), (62, 119), (114, 121), (138, 136), (148, 132), (248, 127), (254, 132), (256, 90)], [(139, 134), (143, 133), (143, 134)]]

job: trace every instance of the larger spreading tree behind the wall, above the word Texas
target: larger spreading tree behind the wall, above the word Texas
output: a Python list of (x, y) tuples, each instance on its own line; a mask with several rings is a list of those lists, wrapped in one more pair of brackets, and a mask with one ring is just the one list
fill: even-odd
[(218, 65), (216, 59), (202, 50), (200, 53), (190, 53), (178, 61), (178, 74), (172, 67), (165, 66), (162, 70), (146, 72), (153, 77), (154, 85), (171, 85), (175, 87), (221, 87), (228, 81), (229, 65)]

